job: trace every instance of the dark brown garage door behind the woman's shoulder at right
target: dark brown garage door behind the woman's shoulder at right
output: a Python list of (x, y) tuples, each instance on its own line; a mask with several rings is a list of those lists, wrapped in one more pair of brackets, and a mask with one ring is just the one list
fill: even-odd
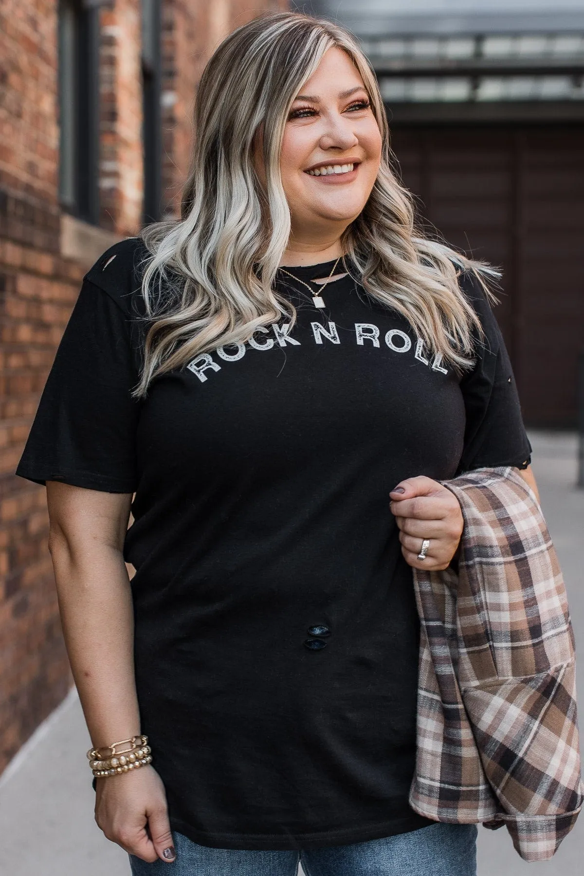
[(391, 126), (419, 215), (503, 269), (495, 313), (531, 426), (576, 422), (584, 351), (584, 125)]

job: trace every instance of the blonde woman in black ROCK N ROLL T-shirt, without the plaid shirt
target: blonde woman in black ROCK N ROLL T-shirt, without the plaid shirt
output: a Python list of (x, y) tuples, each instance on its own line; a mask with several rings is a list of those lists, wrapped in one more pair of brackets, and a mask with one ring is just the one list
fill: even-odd
[(438, 479), (535, 486), (496, 272), (416, 236), (336, 25), (232, 33), (196, 131), (180, 221), (84, 279), (18, 465), (92, 744), (151, 746), (96, 821), (135, 874), (468, 876), (475, 825), (408, 802), (412, 568), (455, 562)]

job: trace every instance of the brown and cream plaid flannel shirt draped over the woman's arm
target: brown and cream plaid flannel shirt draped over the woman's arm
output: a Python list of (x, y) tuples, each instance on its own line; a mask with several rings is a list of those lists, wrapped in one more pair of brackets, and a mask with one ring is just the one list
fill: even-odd
[(527, 861), (552, 858), (582, 802), (574, 639), (558, 558), (510, 466), (441, 481), (461, 504), (454, 569), (414, 569), (420, 629), (412, 808), (506, 824)]

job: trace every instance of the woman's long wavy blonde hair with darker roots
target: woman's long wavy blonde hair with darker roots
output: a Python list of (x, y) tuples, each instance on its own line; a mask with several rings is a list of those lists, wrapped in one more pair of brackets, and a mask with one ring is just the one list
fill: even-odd
[[(180, 218), (142, 232), (150, 253), (142, 282), (149, 329), (135, 397), (146, 395), (154, 376), (245, 343), (260, 326), (282, 317), (294, 325), (295, 308), (272, 288), (291, 229), (279, 156), (292, 102), (333, 46), (361, 74), (383, 139), (376, 182), (341, 237), (343, 251), (365, 290), (403, 314), (433, 354), (455, 369), (472, 364), (473, 328), (479, 337), (482, 329), (457, 268), (475, 272), (492, 300), (482, 275), (498, 272), (416, 232), (412, 194), (391, 171), (383, 99), (355, 37), (331, 22), (280, 12), (237, 28), (208, 61)], [(254, 164), (260, 128), (265, 184)]]

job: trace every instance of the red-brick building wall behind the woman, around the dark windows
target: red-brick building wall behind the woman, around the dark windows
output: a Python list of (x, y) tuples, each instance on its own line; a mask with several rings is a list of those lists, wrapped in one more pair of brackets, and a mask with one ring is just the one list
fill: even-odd
[[(192, 101), (217, 42), (284, 0), (165, 0), (165, 209), (188, 165)], [(143, 198), (139, 0), (101, 11), (100, 228), (59, 204), (57, 3), (0, 6), (0, 772), (72, 684), (47, 550), (46, 491), (14, 470), (95, 258), (136, 234)]]

